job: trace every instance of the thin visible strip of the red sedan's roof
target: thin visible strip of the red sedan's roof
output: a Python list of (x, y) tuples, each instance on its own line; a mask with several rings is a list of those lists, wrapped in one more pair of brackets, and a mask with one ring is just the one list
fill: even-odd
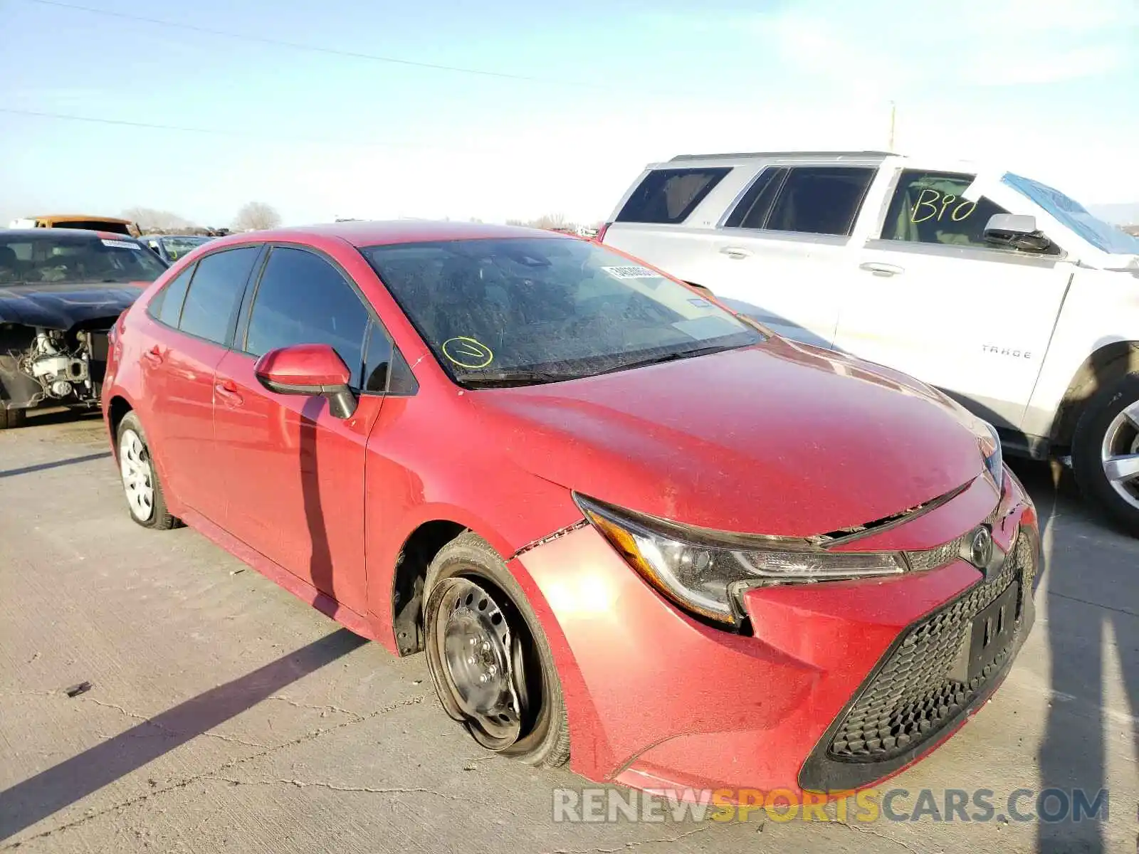
[(428, 220), (388, 220), (388, 221), (354, 221), (329, 222), (319, 225), (302, 225), (296, 228), (272, 229), (269, 231), (240, 232), (219, 238), (219, 243), (244, 243), (251, 239), (296, 240), (313, 237), (335, 237), (352, 246), (380, 246), (385, 244), (413, 244), (435, 240), (486, 240), (510, 237), (546, 237), (560, 240), (573, 240), (568, 235), (560, 235), (543, 229), (532, 229), (522, 225), (494, 225), (482, 222), (436, 222)]

